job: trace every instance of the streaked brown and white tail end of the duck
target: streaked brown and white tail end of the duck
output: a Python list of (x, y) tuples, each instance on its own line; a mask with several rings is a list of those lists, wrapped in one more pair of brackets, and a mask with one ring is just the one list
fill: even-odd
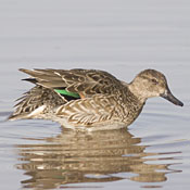
[(9, 121), (38, 118), (39, 114), (45, 111), (45, 107), (52, 110), (58, 105), (66, 103), (65, 100), (52, 89), (43, 88), (38, 85), (17, 100), (20, 102), (14, 105), (15, 111), (8, 117)]

